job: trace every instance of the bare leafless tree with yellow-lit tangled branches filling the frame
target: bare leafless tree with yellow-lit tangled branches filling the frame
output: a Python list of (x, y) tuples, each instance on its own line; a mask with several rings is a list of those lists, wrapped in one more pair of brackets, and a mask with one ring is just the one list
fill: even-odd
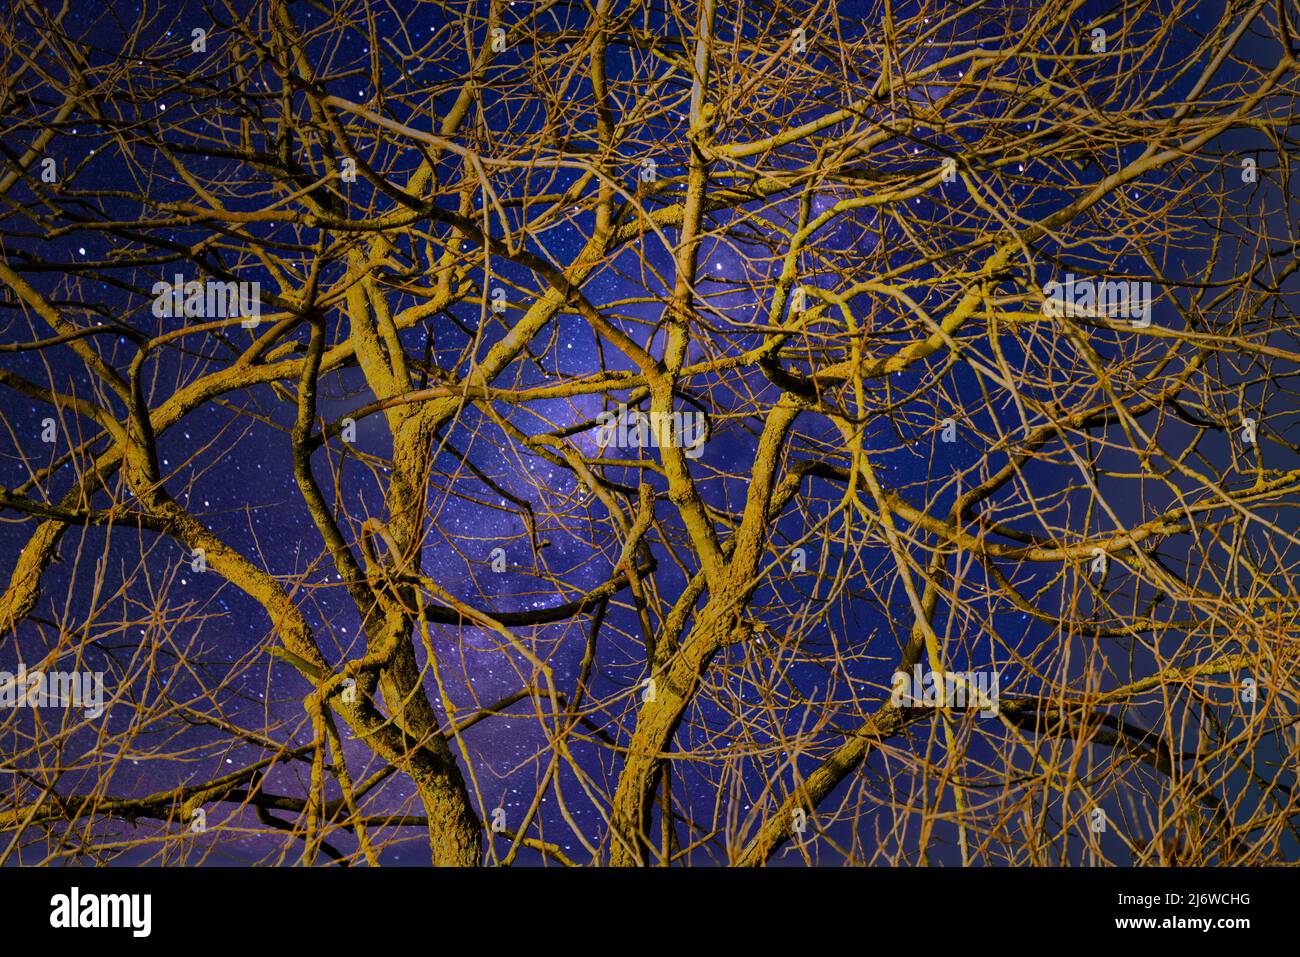
[(4, 21), (5, 859), (1295, 857), (1294, 5), (133, 16)]

